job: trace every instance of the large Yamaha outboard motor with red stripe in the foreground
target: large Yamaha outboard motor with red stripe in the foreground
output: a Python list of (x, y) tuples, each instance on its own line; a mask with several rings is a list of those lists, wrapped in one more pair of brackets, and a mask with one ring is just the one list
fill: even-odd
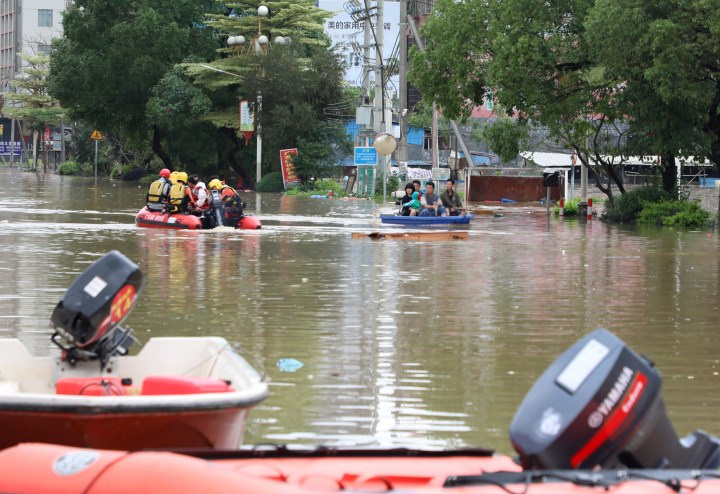
[(598, 329), (563, 353), (525, 396), (510, 425), (524, 468), (720, 466), (720, 441), (678, 439), (652, 362)]

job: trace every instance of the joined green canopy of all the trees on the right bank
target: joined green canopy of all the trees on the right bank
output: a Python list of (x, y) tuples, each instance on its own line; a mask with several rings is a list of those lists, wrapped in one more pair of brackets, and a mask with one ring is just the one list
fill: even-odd
[(438, 0), (411, 78), (449, 118), (468, 117), (491, 91), (519, 124), (573, 149), (612, 200), (631, 153), (712, 155), (720, 23), (711, 4)]

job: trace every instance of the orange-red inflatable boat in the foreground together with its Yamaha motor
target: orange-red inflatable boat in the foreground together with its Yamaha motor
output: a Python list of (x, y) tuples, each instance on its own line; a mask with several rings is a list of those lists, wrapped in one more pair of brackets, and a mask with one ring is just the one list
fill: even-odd
[(678, 439), (652, 363), (605, 330), (540, 377), (510, 426), (519, 454), (317, 449), (120, 452), (22, 444), (0, 451), (0, 490), (145, 493), (671, 494), (720, 491), (720, 442)]

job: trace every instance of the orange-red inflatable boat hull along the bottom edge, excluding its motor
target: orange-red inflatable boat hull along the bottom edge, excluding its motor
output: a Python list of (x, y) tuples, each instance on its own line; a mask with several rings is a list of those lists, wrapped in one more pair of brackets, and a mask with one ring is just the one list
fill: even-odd
[[(209, 461), (208, 461), (209, 460)], [(715, 494), (716, 470), (527, 470), (482, 450), (285, 449), (211, 456), (21, 444), (0, 451), (0, 491), (25, 494)]]

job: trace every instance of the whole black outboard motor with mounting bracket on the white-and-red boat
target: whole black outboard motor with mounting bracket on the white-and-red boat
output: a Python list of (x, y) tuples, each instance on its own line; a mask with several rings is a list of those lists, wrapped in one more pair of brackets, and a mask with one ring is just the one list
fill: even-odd
[(95, 261), (68, 288), (51, 320), (52, 341), (62, 360), (100, 360), (125, 355), (133, 342), (130, 330), (119, 324), (130, 314), (144, 286), (140, 268), (118, 251)]

